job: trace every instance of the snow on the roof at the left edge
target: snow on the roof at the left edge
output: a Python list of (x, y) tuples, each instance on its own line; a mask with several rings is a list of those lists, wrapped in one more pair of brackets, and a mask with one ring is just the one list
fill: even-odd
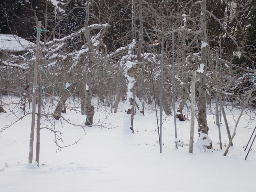
[(22, 39), (17, 35), (0, 34), (0, 50), (23, 51), (35, 47), (35, 43)]

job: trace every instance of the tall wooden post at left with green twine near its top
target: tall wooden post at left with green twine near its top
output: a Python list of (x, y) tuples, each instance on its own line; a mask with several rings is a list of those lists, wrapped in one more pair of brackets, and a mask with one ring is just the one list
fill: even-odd
[(35, 108), (36, 108), (36, 94), (37, 94), (37, 76), (38, 76), (38, 63), (39, 63), (39, 47), (40, 47), (40, 31), (41, 21), (38, 21), (37, 25), (37, 47), (35, 52), (35, 66), (34, 66), (34, 81), (33, 81), (33, 93), (32, 93), (32, 122), (30, 131), (30, 143), (28, 152), (28, 162), (33, 161), (33, 144), (34, 144), (34, 133), (35, 133)]

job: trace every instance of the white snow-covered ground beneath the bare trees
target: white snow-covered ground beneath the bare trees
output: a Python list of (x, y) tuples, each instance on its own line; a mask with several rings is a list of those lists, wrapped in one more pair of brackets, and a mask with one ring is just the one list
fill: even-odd
[[(235, 122), (232, 114), (226, 113), (232, 134)], [(233, 110), (232, 113), (237, 118), (240, 112)], [(16, 113), (17, 117), (9, 114), (0, 114), (0, 128), (22, 116), (19, 112)], [(103, 109), (95, 113), (95, 123), (100, 120), (101, 124), (108, 114)], [(81, 113), (67, 110), (63, 116), (75, 124), (85, 122)], [(200, 150), (194, 145), (193, 154), (188, 152), (190, 122), (177, 120), (178, 140), (183, 142), (183, 146), (178, 146), (177, 150), (174, 146), (174, 120), (173, 116), (169, 116), (163, 123), (163, 146), (162, 153), (159, 153), (158, 132), (154, 131), (157, 128), (155, 112), (146, 110), (145, 116), (136, 114), (135, 133), (126, 134), (123, 131), (122, 105), (117, 114), (110, 113), (103, 123), (109, 128), (115, 127), (113, 129), (87, 127), (85, 135), (81, 127), (67, 123), (62, 127), (61, 122), (56, 121), (56, 130), (64, 133), (65, 144), (58, 141), (60, 146), (72, 144), (81, 138), (77, 144), (61, 151), (56, 152), (54, 134), (42, 129), (40, 168), (28, 168), (31, 117), (26, 116), (0, 133), (0, 192), (256, 191), (255, 150), (250, 151), (247, 160), (244, 160), (247, 151), (243, 146), (246, 146), (255, 126), (249, 124), (245, 128), (245, 119), (248, 118), (246, 115), (241, 118), (234, 147), (224, 157), (222, 154), (226, 148), (223, 146), (223, 150), (220, 150), (217, 144), (219, 133), (213, 115), (208, 115), (208, 135), (214, 148)], [(228, 141), (224, 124), (221, 134), (224, 145)], [(196, 122), (195, 142), (197, 138)]]

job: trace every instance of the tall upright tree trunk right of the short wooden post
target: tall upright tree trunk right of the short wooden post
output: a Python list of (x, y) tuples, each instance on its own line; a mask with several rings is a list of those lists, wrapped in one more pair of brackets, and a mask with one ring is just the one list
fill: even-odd
[[(201, 21), (201, 30), (202, 30), (202, 36), (201, 41), (207, 43), (207, 34), (206, 34), (206, 0), (202, 1), (201, 3), (201, 14), (200, 14), (200, 21)], [(206, 45), (209, 46), (209, 45)], [(207, 48), (206, 46), (202, 46), (201, 48), (201, 63), (204, 65), (204, 71), (207, 71)], [(202, 65), (201, 64), (201, 65)], [(200, 75), (199, 78), (199, 100), (198, 100), (198, 132), (199, 136), (201, 133), (205, 133), (208, 135), (208, 126), (207, 126), (207, 119), (206, 119), (206, 77), (204, 75)], [(206, 137), (203, 137), (202, 139), (206, 139)], [(206, 148), (210, 149), (212, 146), (212, 143)]]

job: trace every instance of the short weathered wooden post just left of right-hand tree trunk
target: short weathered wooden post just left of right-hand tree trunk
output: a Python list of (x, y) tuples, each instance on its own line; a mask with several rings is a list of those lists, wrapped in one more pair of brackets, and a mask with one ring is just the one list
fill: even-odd
[(195, 88), (196, 88), (196, 71), (192, 73), (191, 82), (191, 120), (190, 120), (190, 139), (189, 153), (193, 153), (194, 127), (195, 127)]

